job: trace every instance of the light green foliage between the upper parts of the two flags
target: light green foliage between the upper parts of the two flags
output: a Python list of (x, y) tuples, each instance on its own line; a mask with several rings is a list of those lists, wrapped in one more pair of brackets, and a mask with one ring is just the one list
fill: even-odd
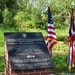
[(51, 11), (56, 28), (67, 28), (70, 24), (72, 0), (51, 0)]

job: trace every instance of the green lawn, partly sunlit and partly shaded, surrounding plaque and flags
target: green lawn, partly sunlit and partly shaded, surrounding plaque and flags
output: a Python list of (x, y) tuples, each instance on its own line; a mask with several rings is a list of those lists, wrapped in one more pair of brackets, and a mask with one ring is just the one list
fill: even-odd
[[(43, 37), (45, 39), (46, 30), (40, 29), (15, 29), (15, 28), (0, 28), (0, 72), (4, 72), (4, 32), (42, 32)], [(68, 50), (69, 50), (69, 42), (67, 41), (68, 29), (59, 30), (56, 29), (56, 35), (58, 42), (53, 47), (53, 57), (52, 61), (54, 63), (54, 71), (56, 72), (68, 72), (67, 71), (67, 57), (68, 57)], [(74, 75), (75, 68), (72, 69)], [(61, 75), (61, 74), (59, 74)]]

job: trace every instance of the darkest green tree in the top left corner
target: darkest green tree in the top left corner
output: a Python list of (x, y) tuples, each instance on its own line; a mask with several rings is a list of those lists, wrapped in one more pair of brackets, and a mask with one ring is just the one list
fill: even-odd
[(3, 22), (3, 15), (2, 12), (8, 8), (8, 11), (13, 12), (13, 16), (17, 11), (17, 0), (0, 0), (0, 23)]

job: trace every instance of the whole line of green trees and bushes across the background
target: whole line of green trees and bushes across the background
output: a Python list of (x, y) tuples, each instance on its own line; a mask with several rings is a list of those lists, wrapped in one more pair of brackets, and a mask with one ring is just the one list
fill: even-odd
[[(72, 0), (51, 0), (50, 9), (56, 28), (70, 24)], [(48, 0), (0, 0), (0, 24), (46, 29)]]

